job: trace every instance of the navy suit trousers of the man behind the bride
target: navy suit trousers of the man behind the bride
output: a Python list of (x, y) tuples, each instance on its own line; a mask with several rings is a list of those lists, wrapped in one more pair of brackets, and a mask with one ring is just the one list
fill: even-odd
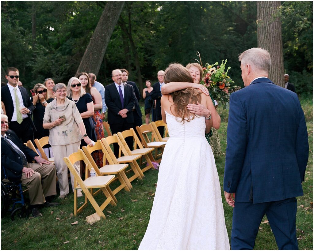
[(252, 201), (235, 202), (231, 230), (231, 249), (253, 249), (259, 225), (266, 214), (278, 249), (297, 250), (296, 211), (297, 200), (295, 197), (257, 204), (253, 204)]

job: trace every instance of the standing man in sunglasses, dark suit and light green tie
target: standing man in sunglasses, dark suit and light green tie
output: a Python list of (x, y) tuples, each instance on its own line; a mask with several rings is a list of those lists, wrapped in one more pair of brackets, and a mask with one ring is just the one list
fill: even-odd
[(18, 86), (19, 70), (9, 67), (6, 70), (8, 84), (1, 87), (1, 101), (4, 103), (10, 128), (13, 130), (23, 143), (28, 140), (34, 141), (35, 128), (30, 115), (35, 106), (30, 101), (30, 97), (24, 87)]

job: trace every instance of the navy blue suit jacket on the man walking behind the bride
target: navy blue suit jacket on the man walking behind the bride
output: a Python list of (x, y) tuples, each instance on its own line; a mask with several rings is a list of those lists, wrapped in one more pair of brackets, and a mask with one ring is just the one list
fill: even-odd
[(294, 92), (268, 78), (230, 95), (224, 190), (236, 201), (303, 195), (308, 160), (304, 112)]

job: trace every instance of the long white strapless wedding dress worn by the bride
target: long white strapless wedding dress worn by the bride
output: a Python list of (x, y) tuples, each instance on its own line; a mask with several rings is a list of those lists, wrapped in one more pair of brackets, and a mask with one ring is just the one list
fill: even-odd
[(218, 173), (205, 138), (205, 118), (180, 123), (167, 112), (166, 118), (170, 139), (160, 163), (149, 224), (138, 249), (229, 250)]

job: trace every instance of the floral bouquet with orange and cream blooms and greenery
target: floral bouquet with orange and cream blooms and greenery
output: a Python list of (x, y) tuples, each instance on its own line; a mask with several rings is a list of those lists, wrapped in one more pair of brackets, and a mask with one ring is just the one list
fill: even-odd
[[(222, 60), (221, 65), (218, 65), (218, 62), (210, 65), (208, 63), (203, 67), (204, 77), (201, 81), (201, 84), (204, 85), (212, 98), (223, 105), (223, 109), (229, 108), (230, 94), (237, 90), (240, 90), (240, 86), (231, 86), (234, 84), (234, 81), (228, 76), (228, 71), (225, 71), (227, 60)], [(217, 67), (214, 67), (217, 65)]]

